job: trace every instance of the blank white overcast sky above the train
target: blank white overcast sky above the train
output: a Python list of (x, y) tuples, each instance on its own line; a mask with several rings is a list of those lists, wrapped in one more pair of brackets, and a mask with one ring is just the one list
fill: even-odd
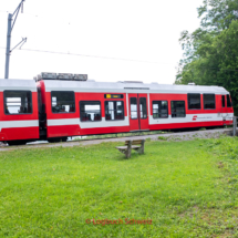
[[(19, 3), (0, 1), (0, 79), (4, 79), (8, 12)], [(41, 72), (54, 72), (87, 74), (99, 82), (173, 84), (183, 56), (180, 32), (199, 27), (201, 3), (25, 0), (12, 30), (11, 48), (22, 38), (28, 40), (11, 53), (9, 79), (32, 80)]]

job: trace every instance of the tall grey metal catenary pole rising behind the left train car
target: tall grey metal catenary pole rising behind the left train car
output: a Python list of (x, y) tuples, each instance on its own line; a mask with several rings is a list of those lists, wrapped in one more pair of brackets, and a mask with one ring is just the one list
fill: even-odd
[[(9, 64), (10, 64), (10, 55), (12, 52), (12, 50), (11, 50), (11, 32), (12, 32), (12, 29), (14, 27), (14, 23), (15, 23), (15, 20), (18, 18), (18, 13), (19, 13), (20, 9), (22, 8), (22, 11), (23, 11), (23, 2), (24, 2), (24, 0), (21, 0), (20, 4), (15, 9), (14, 13), (13, 14), (9, 13), (9, 15), (8, 15), (8, 33), (7, 33), (4, 79), (9, 79)], [(17, 13), (17, 15), (15, 15), (13, 24), (12, 24), (12, 19), (13, 19), (15, 13)]]

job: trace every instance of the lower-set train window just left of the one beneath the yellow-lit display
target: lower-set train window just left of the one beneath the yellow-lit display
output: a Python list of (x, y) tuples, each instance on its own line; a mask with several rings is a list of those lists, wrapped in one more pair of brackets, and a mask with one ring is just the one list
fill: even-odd
[(101, 117), (101, 102), (81, 101), (80, 102), (81, 122), (99, 122)]

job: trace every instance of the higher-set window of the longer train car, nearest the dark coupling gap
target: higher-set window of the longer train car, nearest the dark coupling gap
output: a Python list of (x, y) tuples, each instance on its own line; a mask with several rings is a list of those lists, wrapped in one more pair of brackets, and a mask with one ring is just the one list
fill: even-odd
[(53, 113), (75, 112), (75, 101), (73, 91), (52, 91), (51, 103)]

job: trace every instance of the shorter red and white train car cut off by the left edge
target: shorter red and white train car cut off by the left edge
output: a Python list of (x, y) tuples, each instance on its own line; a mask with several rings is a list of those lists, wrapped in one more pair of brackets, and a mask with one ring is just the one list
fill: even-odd
[(0, 141), (10, 145), (38, 139), (38, 92), (33, 80), (0, 80)]

